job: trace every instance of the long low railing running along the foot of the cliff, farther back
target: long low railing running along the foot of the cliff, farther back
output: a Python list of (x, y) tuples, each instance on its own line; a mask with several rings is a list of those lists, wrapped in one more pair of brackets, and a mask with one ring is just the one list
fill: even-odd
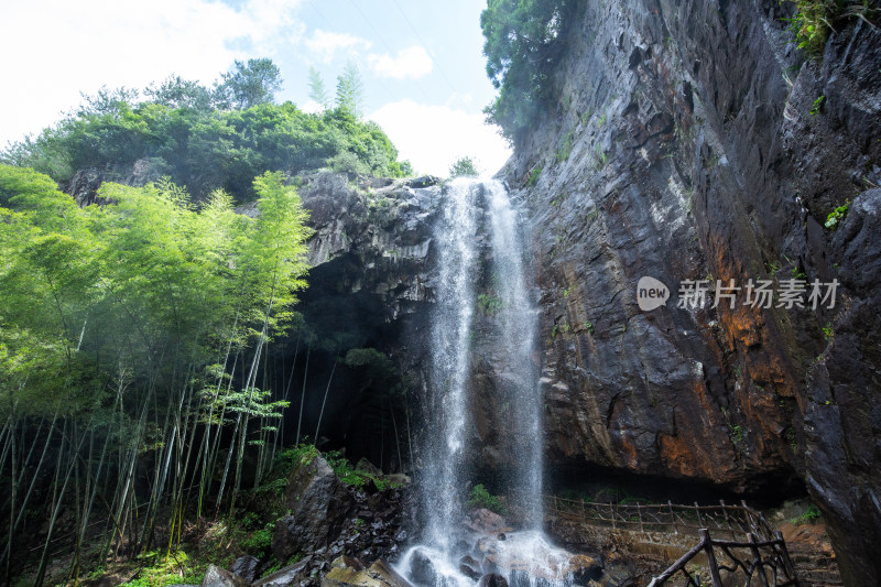
[(707, 529), (731, 540), (753, 534), (762, 541), (775, 540), (774, 529), (764, 517), (741, 502), (718, 506), (667, 503), (592, 503), (584, 500), (544, 497), (545, 515), (588, 525), (637, 532), (664, 532), (699, 537)]

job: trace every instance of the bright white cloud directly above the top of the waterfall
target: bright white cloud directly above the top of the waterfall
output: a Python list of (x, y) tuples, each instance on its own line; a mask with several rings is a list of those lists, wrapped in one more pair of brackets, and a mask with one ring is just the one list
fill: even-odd
[(446, 176), (460, 156), (476, 156), (481, 171), (493, 174), (511, 150), (483, 115), (412, 100), (390, 102), (368, 117), (377, 122), (417, 173)]

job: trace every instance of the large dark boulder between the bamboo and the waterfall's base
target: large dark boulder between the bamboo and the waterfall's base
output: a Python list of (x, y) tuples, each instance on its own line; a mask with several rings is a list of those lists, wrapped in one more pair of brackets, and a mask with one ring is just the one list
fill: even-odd
[(285, 507), (292, 513), (275, 523), (272, 553), (286, 561), (295, 553), (327, 546), (339, 535), (354, 504), (330, 465), (317, 453), (305, 455), (287, 482)]

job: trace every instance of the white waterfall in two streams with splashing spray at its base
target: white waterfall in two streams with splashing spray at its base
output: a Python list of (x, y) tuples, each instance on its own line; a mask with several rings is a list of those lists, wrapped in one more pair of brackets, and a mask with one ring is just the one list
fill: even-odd
[[(425, 474), (418, 478), (425, 528), (398, 572), (421, 586), (471, 587), (481, 575), (501, 575), (512, 587), (572, 585), (573, 555), (554, 547), (541, 531), (542, 402), (533, 361), (537, 313), (527, 287), (524, 237), (504, 186), (493, 180), (450, 182), (434, 242), (439, 275), (431, 339), (432, 421), (422, 447)], [(502, 357), (496, 385), (509, 406), (499, 417), (505, 420), (512, 470), (504, 493), (520, 528), (501, 535), (464, 525), (472, 480), (468, 453), (480, 449), (471, 446), (476, 434), (469, 414), (480, 283), (489, 284), (483, 300), (491, 309), (482, 309), (491, 314), (489, 336)]]

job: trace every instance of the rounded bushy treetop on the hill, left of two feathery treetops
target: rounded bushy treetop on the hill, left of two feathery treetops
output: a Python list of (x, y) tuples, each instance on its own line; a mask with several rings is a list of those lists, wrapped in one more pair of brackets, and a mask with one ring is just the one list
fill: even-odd
[(270, 104), (282, 87), (281, 72), (272, 59), (236, 61), (233, 70), (220, 75), (222, 81), (215, 86), (215, 101), (220, 108), (246, 109), (258, 104)]

